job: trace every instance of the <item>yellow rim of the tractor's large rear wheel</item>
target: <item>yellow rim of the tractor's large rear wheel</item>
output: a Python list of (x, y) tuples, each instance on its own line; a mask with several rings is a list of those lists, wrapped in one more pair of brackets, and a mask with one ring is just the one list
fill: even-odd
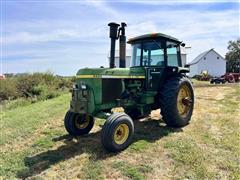
[(181, 117), (187, 117), (192, 103), (192, 93), (187, 85), (183, 85), (177, 96), (177, 109)]

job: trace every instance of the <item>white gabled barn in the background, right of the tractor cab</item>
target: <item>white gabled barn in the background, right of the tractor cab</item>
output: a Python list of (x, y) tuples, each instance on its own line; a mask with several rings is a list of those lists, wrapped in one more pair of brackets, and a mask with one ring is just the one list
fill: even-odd
[(214, 49), (199, 54), (188, 65), (190, 77), (201, 74), (203, 71), (207, 71), (211, 76), (221, 76), (226, 73), (226, 60)]

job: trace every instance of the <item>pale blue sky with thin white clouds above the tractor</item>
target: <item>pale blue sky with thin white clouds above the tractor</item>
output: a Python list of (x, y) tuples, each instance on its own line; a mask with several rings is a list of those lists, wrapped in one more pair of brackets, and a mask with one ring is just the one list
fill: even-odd
[[(161, 32), (186, 43), (187, 61), (239, 38), (237, 0), (1, 0), (1, 73), (70, 76), (108, 67), (109, 22), (128, 38)], [(127, 49), (130, 49), (127, 46)]]

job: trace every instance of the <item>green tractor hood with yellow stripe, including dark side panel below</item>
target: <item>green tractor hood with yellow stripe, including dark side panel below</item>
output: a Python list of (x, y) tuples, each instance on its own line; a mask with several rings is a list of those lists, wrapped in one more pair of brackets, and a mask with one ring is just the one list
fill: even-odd
[[(75, 87), (82, 87), (84, 84), (87, 88), (88, 112), (94, 114), (101, 108), (116, 106), (116, 99), (121, 96), (125, 88), (122, 80), (143, 80), (145, 70), (144, 67), (84, 68), (77, 72), (76, 78)], [(81, 91), (81, 88), (79, 90)]]

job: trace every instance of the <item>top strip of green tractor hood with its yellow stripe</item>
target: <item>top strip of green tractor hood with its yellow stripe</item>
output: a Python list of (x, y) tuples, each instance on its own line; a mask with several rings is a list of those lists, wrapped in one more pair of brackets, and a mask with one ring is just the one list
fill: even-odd
[(78, 79), (143, 79), (145, 70), (143, 67), (131, 68), (84, 68), (77, 72)]

